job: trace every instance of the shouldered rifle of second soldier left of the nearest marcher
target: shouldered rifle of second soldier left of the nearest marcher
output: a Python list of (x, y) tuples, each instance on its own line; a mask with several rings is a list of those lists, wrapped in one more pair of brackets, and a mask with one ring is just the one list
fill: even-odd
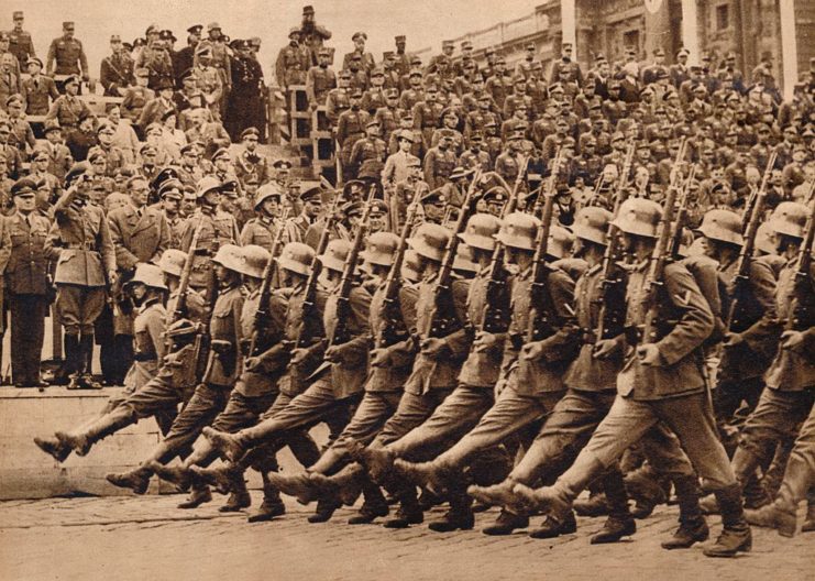
[(530, 313), (527, 325), (526, 342), (542, 339), (541, 324), (546, 322), (547, 314), (551, 311), (549, 294), (543, 288), (549, 277), (549, 267), (547, 266), (547, 250), (549, 249), (549, 231), (552, 227), (554, 216), (554, 191), (560, 164), (563, 161), (562, 149), (558, 149), (558, 154), (552, 162), (552, 175), (549, 178), (547, 190), (538, 195), (536, 206), (540, 206), (540, 196), (543, 196), (543, 206), (541, 208), (541, 224), (538, 229), (538, 238), (535, 241), (535, 256), (532, 257), (532, 284), (529, 286), (531, 300), (529, 302)]

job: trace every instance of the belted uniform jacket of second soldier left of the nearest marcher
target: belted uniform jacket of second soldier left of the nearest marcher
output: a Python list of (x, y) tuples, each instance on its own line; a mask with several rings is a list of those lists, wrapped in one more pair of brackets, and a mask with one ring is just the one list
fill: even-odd
[(537, 335), (544, 344), (543, 353), (538, 360), (530, 361), (520, 357), (533, 306), (531, 266), (513, 277), (513, 311), (507, 331), (508, 340), (504, 343), (502, 375), (513, 377), (510, 372), (514, 372), (514, 390), (520, 395), (536, 396), (563, 391), (563, 374), (574, 358), (576, 338), (574, 319), (570, 311), (574, 304), (574, 281), (560, 268), (550, 268), (543, 296), (536, 297), (551, 309), (538, 317), (541, 322)]

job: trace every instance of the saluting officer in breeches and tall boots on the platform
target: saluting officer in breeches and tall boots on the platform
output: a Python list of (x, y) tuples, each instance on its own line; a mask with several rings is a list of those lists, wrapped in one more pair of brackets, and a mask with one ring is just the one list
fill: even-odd
[(115, 253), (101, 208), (88, 204), (87, 166), (77, 164), (65, 177), (65, 194), (54, 205), (46, 254), (56, 259), (56, 311), (65, 331), (69, 390), (98, 388), (91, 380), (93, 322), (104, 308), (108, 287), (117, 281)]

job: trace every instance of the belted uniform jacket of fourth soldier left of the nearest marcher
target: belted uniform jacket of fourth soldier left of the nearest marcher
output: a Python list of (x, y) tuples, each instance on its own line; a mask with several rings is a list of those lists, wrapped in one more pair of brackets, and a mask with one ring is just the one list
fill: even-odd
[[(433, 309), (437, 275), (426, 275), (419, 283), (416, 297), (416, 336), (419, 341), (429, 336), (431, 325), (430, 315)], [(466, 325), (466, 297), (470, 282), (453, 279), (451, 297), (441, 302), (437, 313), (437, 320), (448, 322), (451, 330), (443, 337), (445, 349), (438, 358), (431, 358), (419, 352), (414, 362), (414, 369), (405, 384), (405, 391), (421, 395), (430, 390), (450, 390), (455, 387), (459, 368), (470, 349)]]

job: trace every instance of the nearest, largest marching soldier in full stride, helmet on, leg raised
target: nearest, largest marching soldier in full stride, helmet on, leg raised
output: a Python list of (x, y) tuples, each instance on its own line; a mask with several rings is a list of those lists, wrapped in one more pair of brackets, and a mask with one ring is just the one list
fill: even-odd
[[(657, 202), (631, 198), (623, 202), (615, 219), (626, 249), (635, 253), (635, 267), (626, 289), (626, 327), (630, 329), (626, 331), (626, 342), (637, 347), (617, 377), (618, 396), (608, 415), (553, 486), (532, 491), (516, 484), (514, 492), (533, 508), (546, 507), (550, 514), (564, 515), (591, 480), (662, 420), (679, 437), (698, 475), (715, 486), (724, 530), (716, 544), (705, 549), (705, 555), (733, 557), (750, 550), (750, 527), (744, 518), (740, 487), (706, 404), (704, 379), (695, 354), (713, 330), (713, 314), (691, 274), (678, 263), (665, 266), (654, 306), (648, 307), (642, 302), (661, 216)], [(651, 309), (657, 309), (656, 317)], [(661, 321), (661, 327), (657, 337), (640, 339), (640, 326), (647, 315)]]

